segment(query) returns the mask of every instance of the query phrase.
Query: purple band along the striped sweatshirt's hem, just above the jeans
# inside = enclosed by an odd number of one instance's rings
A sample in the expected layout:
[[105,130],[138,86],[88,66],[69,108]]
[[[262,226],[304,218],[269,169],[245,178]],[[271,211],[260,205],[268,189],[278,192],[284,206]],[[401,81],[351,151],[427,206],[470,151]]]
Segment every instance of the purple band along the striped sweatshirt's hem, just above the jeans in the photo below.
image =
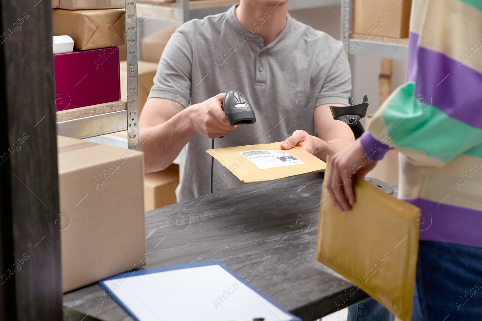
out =
[[419,223],[420,240],[482,247],[482,211],[423,198],[404,201],[421,209],[420,216],[412,219]]

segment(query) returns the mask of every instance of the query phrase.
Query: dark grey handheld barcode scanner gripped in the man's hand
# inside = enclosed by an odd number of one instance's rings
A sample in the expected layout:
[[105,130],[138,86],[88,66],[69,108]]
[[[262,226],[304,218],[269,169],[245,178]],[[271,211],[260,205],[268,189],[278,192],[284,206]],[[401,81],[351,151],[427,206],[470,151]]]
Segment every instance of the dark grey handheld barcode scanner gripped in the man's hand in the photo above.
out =
[[238,90],[229,90],[224,96],[223,109],[229,126],[254,124],[254,109],[246,97]]

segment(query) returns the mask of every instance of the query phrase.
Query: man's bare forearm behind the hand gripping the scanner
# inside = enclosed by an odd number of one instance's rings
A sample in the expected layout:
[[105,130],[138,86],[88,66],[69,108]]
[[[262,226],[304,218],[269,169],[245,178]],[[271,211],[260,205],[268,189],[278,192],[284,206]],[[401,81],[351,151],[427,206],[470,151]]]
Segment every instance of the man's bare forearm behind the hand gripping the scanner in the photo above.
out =
[[159,125],[140,128],[139,150],[144,152],[145,172],[165,169],[196,135],[186,108]]

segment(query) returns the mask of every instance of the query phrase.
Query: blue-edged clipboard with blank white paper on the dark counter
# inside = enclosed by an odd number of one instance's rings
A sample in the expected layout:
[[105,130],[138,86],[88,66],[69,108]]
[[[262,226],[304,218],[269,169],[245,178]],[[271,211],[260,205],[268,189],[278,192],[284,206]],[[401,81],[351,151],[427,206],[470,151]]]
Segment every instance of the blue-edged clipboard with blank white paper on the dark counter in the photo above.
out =
[[[214,284],[217,281],[213,277],[222,280],[222,284]],[[233,283],[224,284],[225,280]],[[113,286],[114,283],[117,286]],[[125,272],[98,284],[136,321],[225,321],[261,317],[266,321],[302,321],[217,261]],[[238,287],[234,289],[233,284]],[[155,293],[151,293],[154,287]],[[189,301],[198,294],[201,296],[197,302]]]

